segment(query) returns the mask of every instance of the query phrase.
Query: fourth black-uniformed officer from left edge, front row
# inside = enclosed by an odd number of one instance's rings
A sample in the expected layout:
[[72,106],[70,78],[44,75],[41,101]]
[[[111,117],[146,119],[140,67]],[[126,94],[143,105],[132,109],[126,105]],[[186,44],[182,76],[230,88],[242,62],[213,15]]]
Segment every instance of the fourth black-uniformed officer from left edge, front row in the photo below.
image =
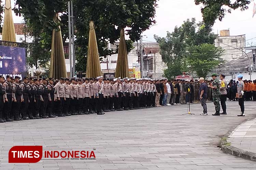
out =
[[31,92],[31,89],[30,89],[30,86],[28,85],[27,77],[23,78],[23,82],[20,84],[20,86],[22,86],[23,99],[24,99],[24,101],[21,104],[20,114],[22,115],[23,120],[28,120],[29,118],[27,117],[27,110],[29,105],[29,94]]

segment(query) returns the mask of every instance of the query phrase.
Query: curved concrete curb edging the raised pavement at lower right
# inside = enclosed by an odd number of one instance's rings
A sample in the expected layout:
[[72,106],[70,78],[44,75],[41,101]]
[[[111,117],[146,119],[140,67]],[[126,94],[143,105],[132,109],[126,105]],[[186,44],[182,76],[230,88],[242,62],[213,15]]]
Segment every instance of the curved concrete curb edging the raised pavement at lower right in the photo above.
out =
[[228,138],[228,136],[224,136],[221,139],[221,149],[223,152],[225,152],[227,154],[234,155],[234,156],[242,157],[244,159],[256,161],[256,153],[247,152],[242,149],[232,147],[231,143],[227,142],[227,138]]

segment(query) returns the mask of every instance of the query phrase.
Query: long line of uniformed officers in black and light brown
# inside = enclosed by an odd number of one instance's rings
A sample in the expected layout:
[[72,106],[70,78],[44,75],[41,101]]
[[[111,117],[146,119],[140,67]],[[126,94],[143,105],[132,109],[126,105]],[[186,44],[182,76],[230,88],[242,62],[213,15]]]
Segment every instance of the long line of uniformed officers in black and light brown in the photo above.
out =
[[155,106],[156,81],[0,76],[0,123]]

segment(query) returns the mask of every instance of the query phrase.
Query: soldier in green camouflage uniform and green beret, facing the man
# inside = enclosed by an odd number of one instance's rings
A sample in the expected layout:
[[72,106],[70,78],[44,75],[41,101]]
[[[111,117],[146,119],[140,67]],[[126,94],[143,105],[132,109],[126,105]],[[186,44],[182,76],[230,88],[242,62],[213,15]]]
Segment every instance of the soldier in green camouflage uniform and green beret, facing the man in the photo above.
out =
[[221,105],[219,104],[219,98],[221,97],[221,91],[220,91],[220,83],[217,79],[217,74],[212,74],[213,82],[210,85],[212,88],[212,97],[213,97],[213,103],[215,106],[215,114],[212,114],[213,116],[219,116],[219,111],[221,110]]

